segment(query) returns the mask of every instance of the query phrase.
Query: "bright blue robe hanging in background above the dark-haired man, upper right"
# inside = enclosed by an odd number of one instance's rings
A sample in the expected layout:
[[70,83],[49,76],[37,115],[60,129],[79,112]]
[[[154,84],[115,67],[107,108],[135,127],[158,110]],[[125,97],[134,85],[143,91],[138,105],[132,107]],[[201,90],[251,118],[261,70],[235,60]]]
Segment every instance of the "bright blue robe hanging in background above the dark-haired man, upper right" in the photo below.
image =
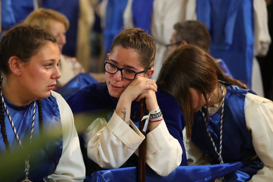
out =
[[251,88],[253,0],[197,0],[197,20],[211,35],[210,53],[225,61],[235,79]]

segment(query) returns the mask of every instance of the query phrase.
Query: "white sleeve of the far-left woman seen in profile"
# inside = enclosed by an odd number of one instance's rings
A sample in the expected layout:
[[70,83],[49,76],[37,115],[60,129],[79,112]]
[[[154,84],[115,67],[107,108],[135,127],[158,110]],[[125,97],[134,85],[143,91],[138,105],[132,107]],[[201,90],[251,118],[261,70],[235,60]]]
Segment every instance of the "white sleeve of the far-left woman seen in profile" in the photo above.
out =
[[59,93],[51,91],[57,100],[62,123],[62,155],[53,174],[45,177],[45,181],[83,181],[85,165],[80,149],[79,137],[74,125],[73,114]]

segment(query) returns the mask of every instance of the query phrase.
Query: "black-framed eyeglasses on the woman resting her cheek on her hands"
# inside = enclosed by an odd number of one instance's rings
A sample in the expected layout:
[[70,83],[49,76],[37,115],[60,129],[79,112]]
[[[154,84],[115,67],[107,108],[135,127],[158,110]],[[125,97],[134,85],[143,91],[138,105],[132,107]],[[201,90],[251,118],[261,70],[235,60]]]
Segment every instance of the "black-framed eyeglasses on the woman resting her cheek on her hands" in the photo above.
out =
[[106,72],[108,72],[110,74],[115,74],[116,72],[120,71],[123,78],[129,79],[129,80],[133,80],[133,79],[136,78],[137,74],[144,73],[144,72],[147,72],[149,70],[149,69],[145,69],[143,71],[136,72],[136,71],[133,71],[131,69],[120,68],[120,67],[116,66],[113,63],[107,62],[107,60],[108,60],[108,58],[104,61],[104,68],[105,68]]

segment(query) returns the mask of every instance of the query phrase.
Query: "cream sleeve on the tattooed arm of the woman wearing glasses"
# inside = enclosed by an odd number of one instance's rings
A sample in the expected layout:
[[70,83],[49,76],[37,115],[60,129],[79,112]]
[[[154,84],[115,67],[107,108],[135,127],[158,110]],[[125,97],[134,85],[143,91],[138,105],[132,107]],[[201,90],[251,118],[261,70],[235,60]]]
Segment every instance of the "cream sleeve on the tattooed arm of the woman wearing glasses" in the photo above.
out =
[[123,165],[145,138],[131,120],[130,126],[116,112],[108,123],[94,120],[83,134],[87,156],[106,169]]

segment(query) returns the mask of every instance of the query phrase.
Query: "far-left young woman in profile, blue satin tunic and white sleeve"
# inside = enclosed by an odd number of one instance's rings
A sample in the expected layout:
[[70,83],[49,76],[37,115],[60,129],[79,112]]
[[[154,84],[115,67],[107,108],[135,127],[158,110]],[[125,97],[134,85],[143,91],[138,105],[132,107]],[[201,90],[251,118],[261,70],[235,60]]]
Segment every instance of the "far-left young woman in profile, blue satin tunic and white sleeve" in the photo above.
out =
[[18,163],[19,171],[9,180],[85,179],[72,112],[64,99],[51,91],[61,76],[59,60],[56,38],[37,27],[17,25],[1,39],[1,153],[24,147],[42,133],[62,131],[40,150],[29,153],[26,165]]

